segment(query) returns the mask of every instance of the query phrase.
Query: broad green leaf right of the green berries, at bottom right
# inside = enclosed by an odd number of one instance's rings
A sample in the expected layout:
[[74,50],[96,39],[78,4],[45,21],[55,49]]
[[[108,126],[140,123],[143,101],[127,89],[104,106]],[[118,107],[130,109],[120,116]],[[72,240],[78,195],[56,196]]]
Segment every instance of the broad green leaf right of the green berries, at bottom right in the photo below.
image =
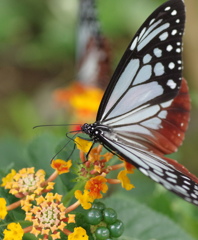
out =
[[193,240],[169,218],[132,198],[116,195],[105,199],[105,203],[114,208],[124,222],[125,231],[120,240]]

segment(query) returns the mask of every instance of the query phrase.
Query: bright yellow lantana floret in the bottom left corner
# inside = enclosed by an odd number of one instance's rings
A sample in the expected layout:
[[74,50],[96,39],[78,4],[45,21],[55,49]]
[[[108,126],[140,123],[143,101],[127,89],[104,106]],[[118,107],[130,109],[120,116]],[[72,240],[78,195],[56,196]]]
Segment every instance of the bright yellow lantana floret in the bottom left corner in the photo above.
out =
[[23,229],[19,223],[8,224],[7,229],[5,229],[3,233],[3,240],[22,240],[24,234]]

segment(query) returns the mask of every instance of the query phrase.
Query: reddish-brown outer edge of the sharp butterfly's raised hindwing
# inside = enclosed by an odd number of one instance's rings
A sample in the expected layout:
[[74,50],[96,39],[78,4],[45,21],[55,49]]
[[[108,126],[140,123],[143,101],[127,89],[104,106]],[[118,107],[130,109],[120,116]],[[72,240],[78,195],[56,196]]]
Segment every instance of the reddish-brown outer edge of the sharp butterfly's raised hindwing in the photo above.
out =
[[161,128],[152,131],[155,136],[150,139],[153,143],[151,151],[158,155],[170,154],[177,151],[182,144],[185,132],[188,128],[190,120],[190,96],[188,93],[188,85],[183,78],[178,95],[174,98],[172,104],[164,108],[167,116],[162,119]]

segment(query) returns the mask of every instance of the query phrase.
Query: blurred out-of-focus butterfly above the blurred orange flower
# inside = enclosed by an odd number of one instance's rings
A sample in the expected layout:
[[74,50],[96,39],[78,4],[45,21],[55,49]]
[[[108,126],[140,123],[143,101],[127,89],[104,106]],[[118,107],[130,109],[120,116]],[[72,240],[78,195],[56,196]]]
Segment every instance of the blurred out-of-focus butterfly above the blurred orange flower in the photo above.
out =
[[80,0],[76,45],[78,81],[105,89],[111,69],[110,47],[101,31],[95,0]]

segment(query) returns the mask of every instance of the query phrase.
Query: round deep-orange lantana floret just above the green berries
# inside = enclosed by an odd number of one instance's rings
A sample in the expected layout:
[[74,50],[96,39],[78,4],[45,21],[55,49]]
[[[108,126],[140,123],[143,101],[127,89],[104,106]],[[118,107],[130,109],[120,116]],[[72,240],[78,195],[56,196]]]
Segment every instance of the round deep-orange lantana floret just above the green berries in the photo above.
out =
[[103,197],[100,192],[106,193],[108,190],[106,182],[107,179],[103,176],[96,176],[87,181],[85,189],[90,191],[90,196],[93,199],[99,199]]

